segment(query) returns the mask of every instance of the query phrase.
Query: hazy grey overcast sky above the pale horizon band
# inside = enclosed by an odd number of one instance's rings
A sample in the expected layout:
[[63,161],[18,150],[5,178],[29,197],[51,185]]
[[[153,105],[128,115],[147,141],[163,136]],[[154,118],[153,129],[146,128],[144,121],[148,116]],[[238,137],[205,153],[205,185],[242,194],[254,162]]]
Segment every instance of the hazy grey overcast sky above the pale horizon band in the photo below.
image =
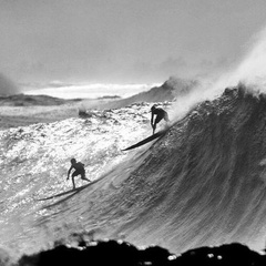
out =
[[265,0],[0,0],[0,73],[16,82],[153,83],[237,63]]

